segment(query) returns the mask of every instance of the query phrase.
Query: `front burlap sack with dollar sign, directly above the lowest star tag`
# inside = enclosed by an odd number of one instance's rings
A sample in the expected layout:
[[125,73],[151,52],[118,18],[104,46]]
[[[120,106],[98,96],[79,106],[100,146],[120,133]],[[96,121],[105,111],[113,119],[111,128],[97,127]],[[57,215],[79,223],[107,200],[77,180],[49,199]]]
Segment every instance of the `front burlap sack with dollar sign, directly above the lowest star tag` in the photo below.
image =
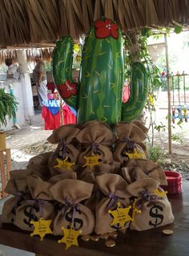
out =
[[90,234],[94,230],[94,214],[82,201],[89,198],[93,185],[78,180],[59,181],[50,188],[54,200],[62,203],[54,218],[53,230],[55,235],[62,235],[62,226],[75,230],[82,230],[83,234]]

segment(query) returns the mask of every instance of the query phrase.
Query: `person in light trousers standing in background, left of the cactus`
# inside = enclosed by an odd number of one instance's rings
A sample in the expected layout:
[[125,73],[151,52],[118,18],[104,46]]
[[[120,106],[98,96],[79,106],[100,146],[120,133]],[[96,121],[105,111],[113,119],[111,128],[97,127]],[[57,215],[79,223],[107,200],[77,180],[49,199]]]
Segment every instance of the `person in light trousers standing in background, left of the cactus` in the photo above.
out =
[[43,106],[42,101],[47,100],[47,87],[46,87],[46,71],[45,71],[45,63],[42,61],[41,55],[36,55],[34,58],[36,65],[33,71],[33,79],[34,83],[36,83],[37,91],[38,91],[38,101],[40,107]]

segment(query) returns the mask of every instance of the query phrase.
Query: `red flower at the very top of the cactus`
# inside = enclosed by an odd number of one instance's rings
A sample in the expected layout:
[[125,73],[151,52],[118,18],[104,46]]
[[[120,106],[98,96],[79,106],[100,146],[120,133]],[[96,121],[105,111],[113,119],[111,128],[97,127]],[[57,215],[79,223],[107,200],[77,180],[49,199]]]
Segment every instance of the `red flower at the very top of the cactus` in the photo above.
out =
[[118,39],[118,29],[117,26],[110,18],[105,19],[105,21],[98,20],[94,22],[95,36],[97,39],[106,39],[110,35],[114,39]]

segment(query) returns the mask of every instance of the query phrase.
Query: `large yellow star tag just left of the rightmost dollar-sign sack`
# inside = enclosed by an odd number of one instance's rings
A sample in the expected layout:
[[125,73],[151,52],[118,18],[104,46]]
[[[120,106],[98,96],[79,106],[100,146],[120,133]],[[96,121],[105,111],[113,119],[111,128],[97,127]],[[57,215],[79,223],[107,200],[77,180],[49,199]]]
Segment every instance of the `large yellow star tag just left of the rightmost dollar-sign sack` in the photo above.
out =
[[132,218],[129,215],[129,211],[131,209],[131,205],[127,208],[122,208],[122,204],[118,202],[118,208],[115,210],[109,209],[108,213],[110,213],[114,219],[111,222],[111,226],[115,226],[119,224],[120,227],[124,227],[127,221],[132,221]]

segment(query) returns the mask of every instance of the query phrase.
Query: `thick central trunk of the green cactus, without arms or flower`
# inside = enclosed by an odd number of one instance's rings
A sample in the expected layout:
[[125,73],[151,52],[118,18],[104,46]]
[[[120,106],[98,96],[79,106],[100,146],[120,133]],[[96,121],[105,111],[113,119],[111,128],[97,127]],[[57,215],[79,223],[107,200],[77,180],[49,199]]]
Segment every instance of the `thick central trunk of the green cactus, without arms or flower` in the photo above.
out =
[[123,39],[95,37],[94,26],[82,52],[78,101],[78,123],[103,120],[115,124],[121,120],[123,90]]

